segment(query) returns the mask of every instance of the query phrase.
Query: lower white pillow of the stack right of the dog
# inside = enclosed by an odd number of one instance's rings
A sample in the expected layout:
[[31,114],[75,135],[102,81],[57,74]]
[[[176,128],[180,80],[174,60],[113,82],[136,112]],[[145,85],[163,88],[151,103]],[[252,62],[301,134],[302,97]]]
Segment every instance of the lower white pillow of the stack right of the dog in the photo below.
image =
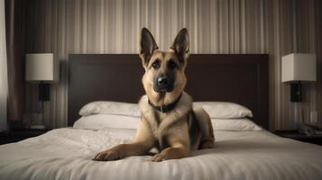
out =
[[211,119],[214,130],[262,130],[249,119]]

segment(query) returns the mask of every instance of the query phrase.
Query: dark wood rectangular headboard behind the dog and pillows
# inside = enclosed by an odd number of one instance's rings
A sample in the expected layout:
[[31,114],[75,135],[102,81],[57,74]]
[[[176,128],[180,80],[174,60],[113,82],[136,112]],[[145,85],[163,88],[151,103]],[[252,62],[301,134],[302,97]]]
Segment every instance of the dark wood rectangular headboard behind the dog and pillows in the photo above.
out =
[[[144,94],[143,70],[137,54],[69,55],[69,126],[86,103],[137,103]],[[193,54],[186,75],[186,92],[194,101],[243,104],[268,129],[267,54]]]

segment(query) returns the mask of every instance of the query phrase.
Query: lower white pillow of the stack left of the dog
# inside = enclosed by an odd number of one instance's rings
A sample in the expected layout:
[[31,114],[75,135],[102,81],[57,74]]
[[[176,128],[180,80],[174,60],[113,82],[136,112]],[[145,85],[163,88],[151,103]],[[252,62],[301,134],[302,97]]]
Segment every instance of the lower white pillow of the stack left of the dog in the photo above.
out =
[[126,115],[93,114],[74,122],[73,128],[86,130],[131,129],[136,130],[140,118]]

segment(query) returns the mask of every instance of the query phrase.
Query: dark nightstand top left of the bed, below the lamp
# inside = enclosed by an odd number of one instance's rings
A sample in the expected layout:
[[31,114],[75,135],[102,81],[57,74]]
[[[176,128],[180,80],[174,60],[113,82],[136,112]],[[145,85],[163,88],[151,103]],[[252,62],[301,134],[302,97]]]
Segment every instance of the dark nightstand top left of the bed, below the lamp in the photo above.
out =
[[0,132],[0,145],[39,136],[49,130],[9,130]]

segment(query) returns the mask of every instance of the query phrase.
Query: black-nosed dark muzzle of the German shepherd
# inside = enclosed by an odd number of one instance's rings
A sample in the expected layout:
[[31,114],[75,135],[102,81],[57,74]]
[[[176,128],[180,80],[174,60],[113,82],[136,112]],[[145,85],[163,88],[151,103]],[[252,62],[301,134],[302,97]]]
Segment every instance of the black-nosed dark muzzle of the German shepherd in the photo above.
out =
[[173,79],[161,74],[154,79],[153,89],[157,93],[167,92],[170,93],[173,91]]

